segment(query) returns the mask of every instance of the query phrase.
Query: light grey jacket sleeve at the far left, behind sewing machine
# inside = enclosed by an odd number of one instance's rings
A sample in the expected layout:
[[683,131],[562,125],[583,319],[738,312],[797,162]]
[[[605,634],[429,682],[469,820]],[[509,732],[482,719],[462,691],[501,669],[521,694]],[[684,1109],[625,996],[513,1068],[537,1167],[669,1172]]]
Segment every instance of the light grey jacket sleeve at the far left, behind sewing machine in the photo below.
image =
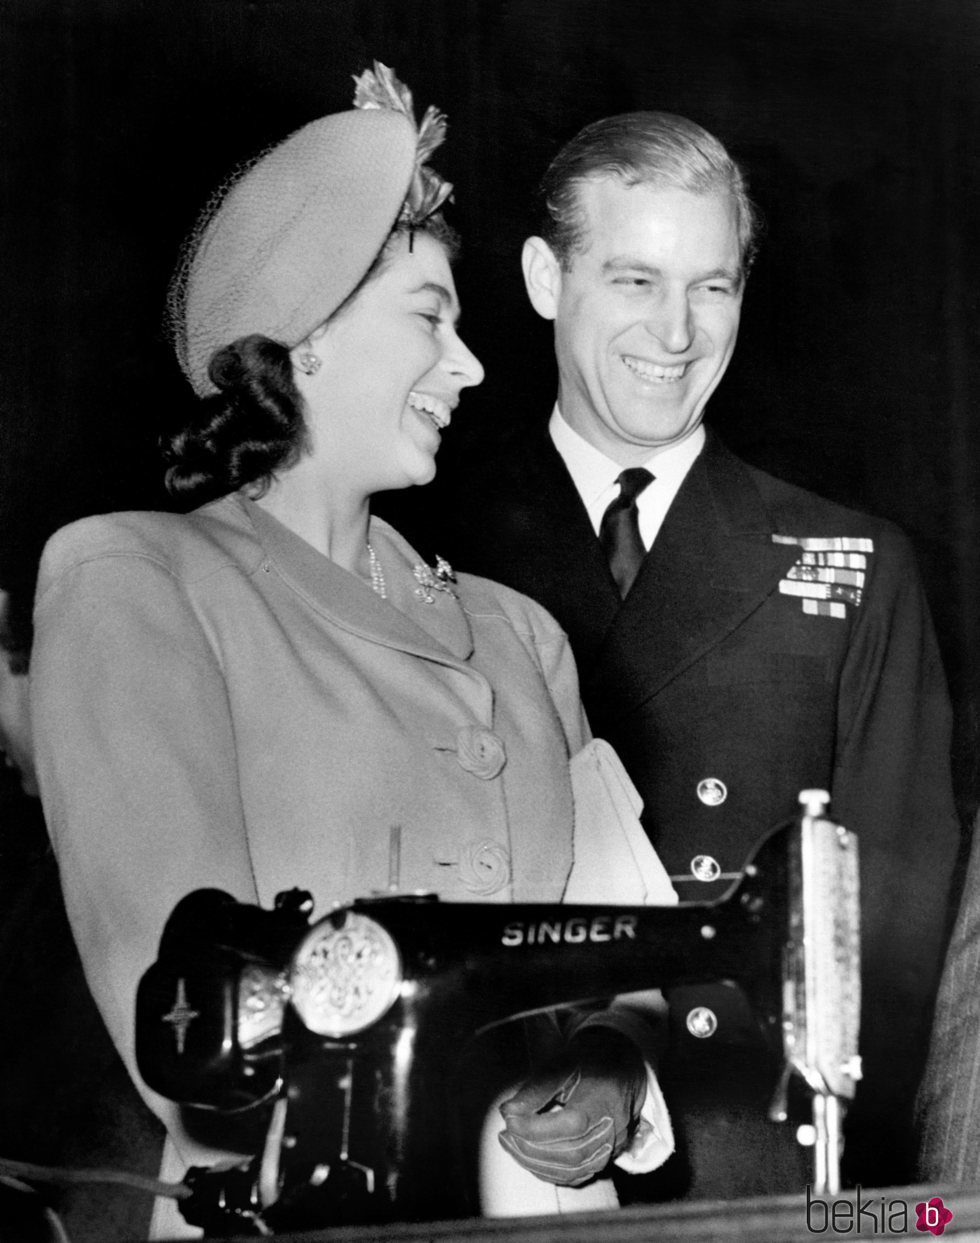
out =
[[90,988],[139,1086],[136,989],[172,909],[201,886],[257,896],[221,670],[158,562],[103,556],[57,572],[42,566],[31,701],[68,917]]

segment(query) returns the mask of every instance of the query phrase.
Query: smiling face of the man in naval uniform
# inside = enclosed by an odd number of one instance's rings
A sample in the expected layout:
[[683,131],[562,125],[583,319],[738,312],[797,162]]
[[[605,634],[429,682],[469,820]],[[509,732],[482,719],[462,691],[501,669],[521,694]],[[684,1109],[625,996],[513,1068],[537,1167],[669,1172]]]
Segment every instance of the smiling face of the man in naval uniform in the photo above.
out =
[[[608,457],[636,465],[694,431],[729,364],[742,295],[735,216],[724,194],[612,178],[580,194],[586,249],[563,271],[531,239],[529,292],[555,319],[562,415]],[[540,281],[531,288],[535,245],[546,293]]]

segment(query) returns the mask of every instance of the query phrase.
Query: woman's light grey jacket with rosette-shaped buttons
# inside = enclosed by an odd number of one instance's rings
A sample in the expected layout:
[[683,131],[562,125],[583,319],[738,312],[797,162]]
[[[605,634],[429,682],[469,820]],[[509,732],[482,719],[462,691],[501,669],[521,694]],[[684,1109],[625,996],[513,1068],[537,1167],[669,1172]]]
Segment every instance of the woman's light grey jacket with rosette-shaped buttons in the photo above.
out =
[[[194,889],[267,907],[300,886],[316,915],[389,884],[448,901],[565,894],[570,758],[594,758],[566,636],[506,587],[437,578],[387,523],[371,539],[387,600],[239,497],[88,518],[45,552],[31,670],[45,814],[137,1084],[137,983]],[[594,792],[581,764],[578,781]],[[144,1094],[184,1156],[208,1161]]]

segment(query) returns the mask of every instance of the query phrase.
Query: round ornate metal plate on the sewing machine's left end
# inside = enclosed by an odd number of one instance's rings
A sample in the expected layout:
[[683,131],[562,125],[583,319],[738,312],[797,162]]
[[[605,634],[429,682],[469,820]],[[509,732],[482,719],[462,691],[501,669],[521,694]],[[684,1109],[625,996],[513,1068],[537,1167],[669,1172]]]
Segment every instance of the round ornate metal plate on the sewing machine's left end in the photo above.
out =
[[363,1032],[387,1013],[402,984],[402,960],[386,929],[342,911],[315,925],[290,968],[292,1004],[317,1035]]

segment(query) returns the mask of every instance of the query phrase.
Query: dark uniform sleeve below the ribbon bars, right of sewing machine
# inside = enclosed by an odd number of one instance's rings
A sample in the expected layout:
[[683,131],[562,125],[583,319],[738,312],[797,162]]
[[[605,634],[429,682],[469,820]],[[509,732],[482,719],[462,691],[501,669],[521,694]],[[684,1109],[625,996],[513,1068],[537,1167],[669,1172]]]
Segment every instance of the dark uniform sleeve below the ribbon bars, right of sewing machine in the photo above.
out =
[[856,1119],[907,1111],[939,978],[959,825],[951,712],[919,576],[885,532],[838,692],[834,819],[858,834],[862,1053]]

